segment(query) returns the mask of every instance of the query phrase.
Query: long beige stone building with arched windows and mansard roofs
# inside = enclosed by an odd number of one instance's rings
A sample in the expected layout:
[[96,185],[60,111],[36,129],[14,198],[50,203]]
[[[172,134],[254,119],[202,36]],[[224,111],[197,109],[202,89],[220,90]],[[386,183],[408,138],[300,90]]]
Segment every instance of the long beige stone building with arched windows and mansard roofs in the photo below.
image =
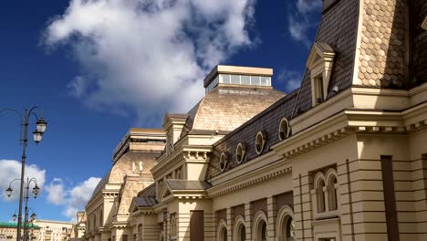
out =
[[166,114],[151,182],[101,183],[85,239],[427,240],[427,2],[323,5],[300,88],[214,68],[203,100]]

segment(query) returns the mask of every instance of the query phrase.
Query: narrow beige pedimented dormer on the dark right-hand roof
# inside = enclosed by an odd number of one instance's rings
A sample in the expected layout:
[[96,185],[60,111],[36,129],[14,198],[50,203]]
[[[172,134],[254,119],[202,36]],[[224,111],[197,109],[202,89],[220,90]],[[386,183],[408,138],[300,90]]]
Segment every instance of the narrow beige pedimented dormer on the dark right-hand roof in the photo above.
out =
[[310,70],[313,106],[326,100],[330,73],[334,64],[335,51],[325,43],[315,43],[307,59]]

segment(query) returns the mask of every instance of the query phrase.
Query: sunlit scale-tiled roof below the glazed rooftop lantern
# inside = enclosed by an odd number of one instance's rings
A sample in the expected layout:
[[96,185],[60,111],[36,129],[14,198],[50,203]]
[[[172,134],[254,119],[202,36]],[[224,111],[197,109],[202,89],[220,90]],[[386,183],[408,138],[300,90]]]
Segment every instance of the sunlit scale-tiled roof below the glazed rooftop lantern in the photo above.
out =
[[269,88],[217,87],[188,112],[181,136],[192,130],[233,131],[284,95]]

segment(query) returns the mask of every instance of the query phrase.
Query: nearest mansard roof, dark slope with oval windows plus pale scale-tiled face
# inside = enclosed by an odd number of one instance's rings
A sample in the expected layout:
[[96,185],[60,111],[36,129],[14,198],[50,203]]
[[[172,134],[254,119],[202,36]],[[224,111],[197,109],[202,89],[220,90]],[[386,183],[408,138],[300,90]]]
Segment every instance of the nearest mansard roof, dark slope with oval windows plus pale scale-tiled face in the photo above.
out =
[[[359,9],[360,1],[364,1],[363,9]],[[427,1],[414,0],[409,5],[396,0],[326,2],[328,9],[324,11],[315,39],[315,46],[336,54],[326,100],[350,87],[408,89],[427,81],[427,31],[421,27],[423,17],[427,15]],[[413,30],[409,40],[411,43],[405,38],[407,13],[410,13]],[[412,47],[410,76],[405,74],[408,71],[405,55],[410,51],[405,48],[405,41]],[[296,118],[313,108],[312,104],[311,73],[306,69],[299,89],[213,145],[206,178],[221,173],[219,160],[222,152],[230,153],[225,172],[237,165],[234,155],[240,141],[248,147],[243,162],[254,159],[257,156],[254,148],[257,131],[266,132],[263,153],[268,152],[272,145],[280,141],[277,128],[282,118]]]

